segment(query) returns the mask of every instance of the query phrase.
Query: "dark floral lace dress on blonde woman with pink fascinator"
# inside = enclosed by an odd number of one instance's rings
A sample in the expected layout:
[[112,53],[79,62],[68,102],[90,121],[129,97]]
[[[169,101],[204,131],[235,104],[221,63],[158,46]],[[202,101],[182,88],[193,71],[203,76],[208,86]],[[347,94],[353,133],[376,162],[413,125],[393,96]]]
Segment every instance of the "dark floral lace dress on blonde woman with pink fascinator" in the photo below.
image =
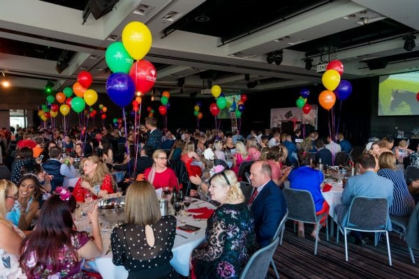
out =
[[196,278],[240,278],[258,249],[247,204],[223,204],[207,221],[205,246],[193,250]]

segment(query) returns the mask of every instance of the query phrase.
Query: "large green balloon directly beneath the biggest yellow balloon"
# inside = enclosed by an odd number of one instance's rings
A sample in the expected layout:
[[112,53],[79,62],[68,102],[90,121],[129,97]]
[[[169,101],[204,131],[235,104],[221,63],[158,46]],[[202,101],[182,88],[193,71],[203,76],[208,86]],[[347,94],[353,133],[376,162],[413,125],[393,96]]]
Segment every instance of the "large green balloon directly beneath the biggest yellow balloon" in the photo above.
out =
[[122,42],[111,43],[105,52],[105,60],[113,73],[128,73],[134,63]]

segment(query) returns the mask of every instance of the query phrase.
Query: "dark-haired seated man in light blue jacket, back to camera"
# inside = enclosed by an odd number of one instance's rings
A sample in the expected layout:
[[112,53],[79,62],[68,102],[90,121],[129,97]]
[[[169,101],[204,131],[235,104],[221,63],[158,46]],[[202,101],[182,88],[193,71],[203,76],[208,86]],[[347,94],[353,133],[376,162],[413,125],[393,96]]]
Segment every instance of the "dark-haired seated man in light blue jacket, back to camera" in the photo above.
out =
[[[349,177],[346,181],[344,192],[341,196],[341,204],[335,206],[335,215],[341,225],[348,220],[348,210],[354,197],[385,197],[388,199],[388,207],[392,205],[393,183],[390,179],[378,176],[374,171],[376,161],[371,154],[362,154],[358,158],[360,175]],[[390,217],[387,219],[387,227],[391,230]],[[361,243],[360,234],[355,234],[355,242]]]

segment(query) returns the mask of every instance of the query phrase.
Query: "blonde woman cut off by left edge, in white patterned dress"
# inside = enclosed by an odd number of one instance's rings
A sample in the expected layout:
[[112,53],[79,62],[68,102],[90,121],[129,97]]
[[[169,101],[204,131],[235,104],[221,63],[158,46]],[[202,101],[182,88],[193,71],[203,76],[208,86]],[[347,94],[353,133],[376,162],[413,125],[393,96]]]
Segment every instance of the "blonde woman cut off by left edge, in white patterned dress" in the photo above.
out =
[[17,187],[11,181],[0,180],[0,278],[26,278],[20,269],[19,246],[23,232],[6,220],[6,213],[17,199]]

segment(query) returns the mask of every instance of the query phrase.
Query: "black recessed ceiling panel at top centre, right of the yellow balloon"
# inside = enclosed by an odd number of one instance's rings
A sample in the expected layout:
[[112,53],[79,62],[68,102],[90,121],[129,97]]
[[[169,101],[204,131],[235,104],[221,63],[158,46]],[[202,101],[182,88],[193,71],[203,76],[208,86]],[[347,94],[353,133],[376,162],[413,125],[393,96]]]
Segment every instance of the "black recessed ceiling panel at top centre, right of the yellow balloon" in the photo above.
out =
[[260,29],[267,24],[280,22],[303,10],[330,1],[253,1],[253,0],[207,0],[180,20],[166,28],[189,31],[221,38],[226,42],[242,34]]

